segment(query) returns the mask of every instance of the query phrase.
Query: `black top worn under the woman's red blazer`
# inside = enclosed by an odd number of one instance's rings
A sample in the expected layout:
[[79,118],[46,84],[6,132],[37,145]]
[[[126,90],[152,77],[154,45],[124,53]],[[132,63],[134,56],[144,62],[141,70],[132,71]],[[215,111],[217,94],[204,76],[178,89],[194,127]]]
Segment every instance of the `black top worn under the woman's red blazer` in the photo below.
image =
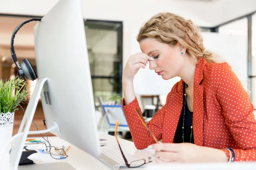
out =
[[[183,88],[183,94],[185,93],[185,86]],[[185,96],[183,95],[183,106],[182,106],[182,110],[180,113],[180,119],[177,125],[177,129],[175,132],[175,136],[174,136],[174,141],[175,143],[183,143],[183,139],[182,139],[182,126],[183,126],[183,115],[184,115],[184,100],[185,100]],[[185,107],[185,119],[184,119],[184,142],[188,142],[190,143],[190,134],[191,134],[191,125],[192,125],[192,119],[193,118],[193,112],[189,111],[188,105],[186,104]],[[192,132],[192,139],[191,139],[191,143],[194,143],[194,135]]]

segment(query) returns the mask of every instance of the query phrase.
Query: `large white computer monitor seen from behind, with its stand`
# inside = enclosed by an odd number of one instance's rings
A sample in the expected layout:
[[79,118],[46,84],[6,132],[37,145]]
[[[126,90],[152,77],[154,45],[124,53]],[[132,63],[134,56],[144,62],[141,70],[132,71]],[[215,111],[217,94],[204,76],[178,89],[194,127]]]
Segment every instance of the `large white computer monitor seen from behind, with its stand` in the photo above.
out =
[[10,153],[17,169],[23,145],[41,94],[51,133],[94,157],[100,155],[93,89],[81,0],[60,0],[35,26],[38,73],[32,97]]

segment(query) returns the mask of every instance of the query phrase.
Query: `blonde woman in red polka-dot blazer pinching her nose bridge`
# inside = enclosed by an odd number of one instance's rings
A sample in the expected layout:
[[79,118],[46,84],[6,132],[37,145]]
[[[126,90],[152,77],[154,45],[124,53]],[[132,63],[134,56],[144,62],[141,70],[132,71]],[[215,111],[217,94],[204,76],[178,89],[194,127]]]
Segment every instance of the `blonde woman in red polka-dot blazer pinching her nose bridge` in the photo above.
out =
[[[256,161],[253,104],[227,62],[205,50],[192,21],[157,14],[140,29],[137,41],[142,53],[129,57],[122,77],[122,105],[137,149],[160,150],[157,162]],[[181,77],[147,123],[162,144],[154,144],[134,111],[140,106],[133,79],[148,62],[163,79]]]

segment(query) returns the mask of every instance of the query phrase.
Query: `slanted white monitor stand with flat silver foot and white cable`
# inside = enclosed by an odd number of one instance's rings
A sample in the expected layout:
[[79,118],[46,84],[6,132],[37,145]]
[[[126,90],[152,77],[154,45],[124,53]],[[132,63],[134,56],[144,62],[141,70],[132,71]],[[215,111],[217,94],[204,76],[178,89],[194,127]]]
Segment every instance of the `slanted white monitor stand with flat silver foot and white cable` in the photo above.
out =
[[[35,109],[38,105],[38,100],[40,98],[40,94],[44,87],[44,83],[46,83],[47,80],[48,80],[48,78],[45,77],[45,78],[38,79],[38,82],[36,82],[35,89],[34,89],[33,94],[29,100],[29,104],[26,108],[26,112],[25,112],[22,122],[20,124],[19,131],[16,134],[17,137],[15,139],[15,142],[12,147],[12,151],[10,153],[10,163],[11,163],[11,167],[13,170],[22,170],[22,168],[28,170],[28,167],[33,167],[33,169],[36,169],[36,170],[41,170],[40,168],[42,168],[42,170],[43,170],[43,167],[44,167],[44,170],[45,169],[74,170],[74,168],[70,164],[65,163],[65,162],[58,162],[58,163],[51,163],[51,164],[31,164],[31,165],[18,166],[19,162],[20,162],[20,157],[22,155],[23,147],[24,147],[24,144],[25,144],[28,134],[47,133],[52,130],[60,131],[58,124],[56,122],[54,122],[55,124],[47,130],[29,131],[31,123],[32,123],[32,119],[35,115]],[[55,166],[58,166],[58,167],[53,168]],[[63,168],[60,168],[60,167],[63,167]]]

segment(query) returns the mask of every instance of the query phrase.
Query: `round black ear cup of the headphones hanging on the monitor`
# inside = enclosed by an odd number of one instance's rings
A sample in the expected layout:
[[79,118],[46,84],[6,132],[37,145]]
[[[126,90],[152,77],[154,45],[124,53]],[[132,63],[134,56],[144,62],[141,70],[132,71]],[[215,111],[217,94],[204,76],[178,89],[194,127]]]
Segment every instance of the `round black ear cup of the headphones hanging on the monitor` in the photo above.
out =
[[32,81],[37,79],[37,74],[28,59],[23,59],[20,63],[20,67],[27,79]]

